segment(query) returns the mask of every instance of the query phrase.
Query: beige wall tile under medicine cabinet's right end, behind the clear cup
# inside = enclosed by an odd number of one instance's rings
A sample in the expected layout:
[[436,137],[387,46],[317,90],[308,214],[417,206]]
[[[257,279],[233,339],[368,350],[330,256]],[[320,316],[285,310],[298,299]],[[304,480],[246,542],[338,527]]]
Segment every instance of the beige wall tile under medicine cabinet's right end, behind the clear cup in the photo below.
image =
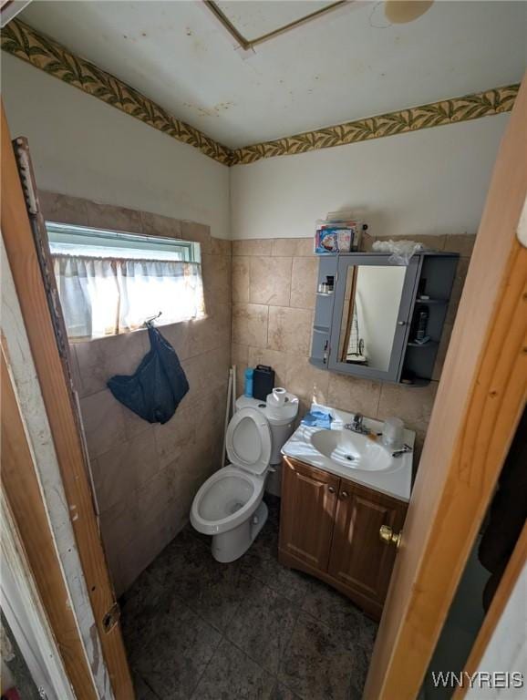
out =
[[430,382],[429,386],[383,384],[377,417],[379,420],[390,416],[402,418],[410,430],[424,432],[429,426],[437,389],[437,382]]

